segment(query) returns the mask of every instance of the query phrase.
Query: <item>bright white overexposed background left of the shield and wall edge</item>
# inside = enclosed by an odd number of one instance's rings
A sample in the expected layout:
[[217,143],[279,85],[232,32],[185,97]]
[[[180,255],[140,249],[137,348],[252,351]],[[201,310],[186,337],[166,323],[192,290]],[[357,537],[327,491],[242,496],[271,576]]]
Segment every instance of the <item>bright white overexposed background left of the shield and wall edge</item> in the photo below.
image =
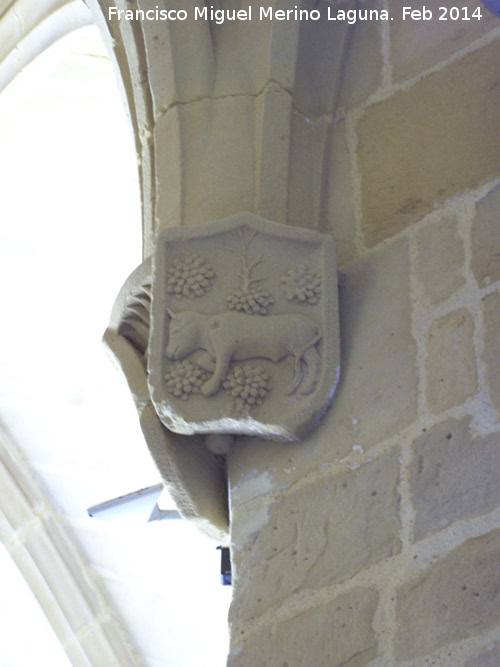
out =
[[[216,545],[183,521],[86,513],[159,481],[100,342],[141,261],[141,214],[131,131],[95,27],[60,40],[0,95],[0,187],[0,421],[145,664],[221,667],[230,589]],[[24,610],[27,596],[12,595]],[[0,643],[0,667],[34,664],[17,658]]]

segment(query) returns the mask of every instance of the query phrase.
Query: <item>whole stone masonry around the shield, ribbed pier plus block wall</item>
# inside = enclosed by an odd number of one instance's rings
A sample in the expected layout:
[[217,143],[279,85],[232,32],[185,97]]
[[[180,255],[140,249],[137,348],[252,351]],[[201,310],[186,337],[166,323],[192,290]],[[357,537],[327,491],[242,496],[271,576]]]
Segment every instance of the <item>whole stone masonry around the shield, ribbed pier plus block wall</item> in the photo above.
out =
[[135,130],[145,258],[162,228],[241,211],[337,247],[331,408],[226,457],[228,664],[499,664],[500,20],[469,0],[454,20],[320,0],[299,3],[317,21],[221,24],[88,4]]

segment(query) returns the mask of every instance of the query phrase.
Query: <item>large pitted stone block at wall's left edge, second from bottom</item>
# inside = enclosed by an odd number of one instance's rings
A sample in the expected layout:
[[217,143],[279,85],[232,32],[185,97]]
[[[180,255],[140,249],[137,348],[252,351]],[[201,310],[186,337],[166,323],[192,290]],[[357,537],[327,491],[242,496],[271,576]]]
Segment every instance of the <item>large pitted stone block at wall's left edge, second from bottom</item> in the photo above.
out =
[[[392,452],[277,501],[254,543],[234,550],[231,617],[258,616],[293,593],[330,586],[397,553],[398,479]],[[236,511],[233,525],[238,521]]]

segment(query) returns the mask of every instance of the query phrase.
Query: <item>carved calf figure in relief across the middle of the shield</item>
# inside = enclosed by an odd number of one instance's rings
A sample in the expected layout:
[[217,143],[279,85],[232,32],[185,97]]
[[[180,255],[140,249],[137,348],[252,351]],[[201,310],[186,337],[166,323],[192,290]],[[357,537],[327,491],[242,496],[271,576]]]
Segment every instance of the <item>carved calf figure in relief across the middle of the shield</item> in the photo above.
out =
[[[215,394],[226,377],[231,361],[265,358],[275,363],[292,356],[295,375],[289,394],[297,391],[307,395],[314,389],[320,373],[320,355],[316,344],[322,334],[319,324],[306,315],[287,313],[256,317],[226,311],[204,315],[194,311],[170,315],[166,356],[184,359],[192,352],[203,350],[199,363],[213,371],[202,385],[205,396]],[[302,364],[305,363],[306,377]]]

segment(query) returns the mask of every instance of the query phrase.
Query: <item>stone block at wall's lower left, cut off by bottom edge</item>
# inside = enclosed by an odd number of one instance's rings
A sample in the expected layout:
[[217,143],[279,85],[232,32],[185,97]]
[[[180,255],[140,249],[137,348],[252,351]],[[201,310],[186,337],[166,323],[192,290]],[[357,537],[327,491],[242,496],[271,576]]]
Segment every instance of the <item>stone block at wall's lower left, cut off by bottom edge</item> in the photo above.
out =
[[237,646],[229,667],[362,667],[376,657],[377,593],[358,588],[264,630]]

